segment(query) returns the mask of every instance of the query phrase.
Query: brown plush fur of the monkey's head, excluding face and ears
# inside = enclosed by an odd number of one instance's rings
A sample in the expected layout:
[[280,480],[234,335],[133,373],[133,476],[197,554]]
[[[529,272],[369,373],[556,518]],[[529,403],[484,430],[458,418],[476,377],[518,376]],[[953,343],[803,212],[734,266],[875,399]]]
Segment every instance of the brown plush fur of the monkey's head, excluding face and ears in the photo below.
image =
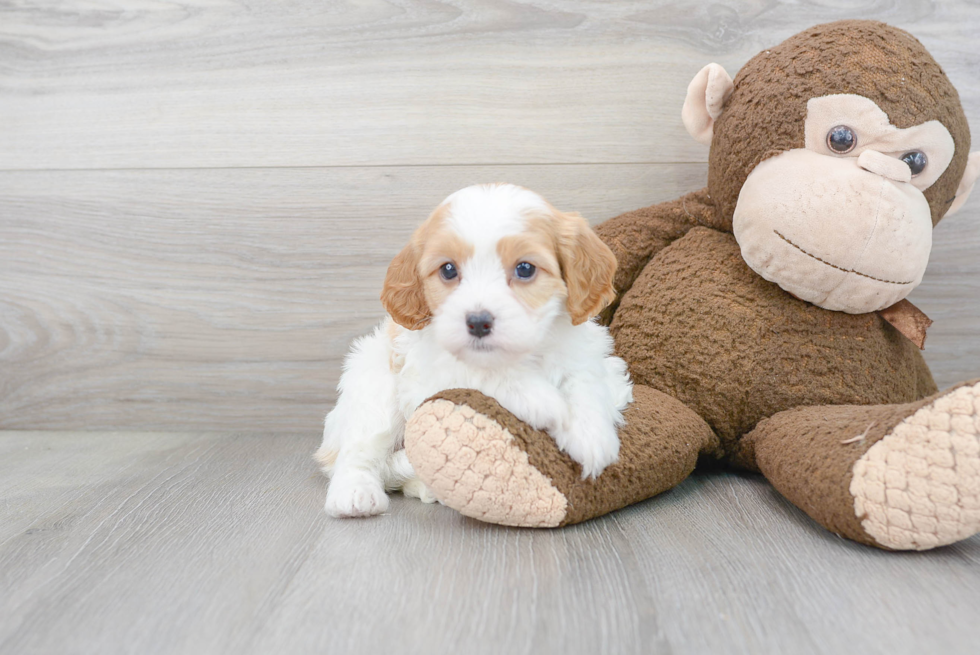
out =
[[908,32],[884,23],[845,20],[804,30],[753,57],[715,123],[708,189],[731,229],[738,194],[764,159],[803,147],[810,98],[853,93],[874,100],[893,125],[938,120],[953,137],[949,168],[925,192],[933,224],[956,195],[970,153],[970,128],[959,95],[929,52]]

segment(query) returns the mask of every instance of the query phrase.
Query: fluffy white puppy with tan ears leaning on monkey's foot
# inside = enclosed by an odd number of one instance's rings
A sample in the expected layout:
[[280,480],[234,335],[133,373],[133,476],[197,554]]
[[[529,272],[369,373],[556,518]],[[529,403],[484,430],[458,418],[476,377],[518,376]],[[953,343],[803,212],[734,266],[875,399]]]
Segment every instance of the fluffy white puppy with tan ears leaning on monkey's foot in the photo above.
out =
[[577,214],[513,185],[446,198],[388,268],[388,317],[356,340],[315,458],[331,516],[388,508],[385,489],[432,502],[402,448],[438,391],[477,389],[598,476],[619,456],[633,399],[626,364],[591,321],[615,296],[616,258]]

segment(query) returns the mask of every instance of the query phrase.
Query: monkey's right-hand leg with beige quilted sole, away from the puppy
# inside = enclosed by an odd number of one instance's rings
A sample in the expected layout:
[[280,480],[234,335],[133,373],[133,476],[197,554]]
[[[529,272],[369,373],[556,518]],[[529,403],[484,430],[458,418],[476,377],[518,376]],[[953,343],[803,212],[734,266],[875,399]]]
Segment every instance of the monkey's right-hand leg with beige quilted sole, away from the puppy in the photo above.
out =
[[824,527],[928,550],[980,532],[980,381],[904,405],[815,406],[746,437],[759,469]]

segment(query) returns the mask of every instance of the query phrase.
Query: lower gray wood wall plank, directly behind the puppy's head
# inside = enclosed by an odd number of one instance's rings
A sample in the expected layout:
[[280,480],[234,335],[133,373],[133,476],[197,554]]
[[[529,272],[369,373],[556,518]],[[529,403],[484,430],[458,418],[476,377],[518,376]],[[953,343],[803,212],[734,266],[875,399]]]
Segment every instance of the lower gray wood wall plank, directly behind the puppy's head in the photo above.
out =
[[[391,257],[448,193],[538,189],[593,220],[700,164],[0,173],[0,428],[316,430]],[[941,385],[980,375],[980,202],[912,300]],[[974,299],[971,302],[970,299]]]

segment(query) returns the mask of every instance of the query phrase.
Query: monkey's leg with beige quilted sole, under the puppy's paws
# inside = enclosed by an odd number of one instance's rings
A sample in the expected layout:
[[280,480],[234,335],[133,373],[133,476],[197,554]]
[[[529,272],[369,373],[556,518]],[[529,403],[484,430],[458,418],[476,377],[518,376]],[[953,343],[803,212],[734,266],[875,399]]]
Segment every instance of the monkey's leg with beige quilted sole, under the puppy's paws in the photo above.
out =
[[455,389],[429,399],[405,429],[416,474],[444,504],[502,525],[578,523],[670,489],[717,439],[694,412],[646,387],[620,429],[620,458],[595,480],[532,429],[477,391]]

